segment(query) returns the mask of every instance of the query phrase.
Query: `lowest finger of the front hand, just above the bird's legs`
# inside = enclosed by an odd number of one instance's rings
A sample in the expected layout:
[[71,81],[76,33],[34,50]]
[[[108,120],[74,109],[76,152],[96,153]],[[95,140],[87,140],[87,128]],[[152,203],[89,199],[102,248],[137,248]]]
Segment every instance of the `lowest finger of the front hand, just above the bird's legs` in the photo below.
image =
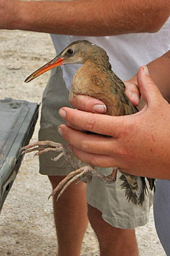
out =
[[81,151],[80,149],[73,147],[72,145],[69,145],[69,149],[71,149],[71,151],[77,158],[79,158],[84,163],[87,163],[88,165],[103,168],[120,165],[120,163],[118,163],[118,161],[114,157],[111,157],[109,155],[100,155],[84,152]]

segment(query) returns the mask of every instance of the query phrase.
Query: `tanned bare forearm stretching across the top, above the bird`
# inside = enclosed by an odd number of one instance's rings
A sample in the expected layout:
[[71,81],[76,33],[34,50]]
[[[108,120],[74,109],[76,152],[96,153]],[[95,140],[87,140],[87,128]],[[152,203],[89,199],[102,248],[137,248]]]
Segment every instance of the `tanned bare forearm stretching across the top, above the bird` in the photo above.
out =
[[0,0],[0,27],[87,36],[156,32],[169,11],[169,0]]

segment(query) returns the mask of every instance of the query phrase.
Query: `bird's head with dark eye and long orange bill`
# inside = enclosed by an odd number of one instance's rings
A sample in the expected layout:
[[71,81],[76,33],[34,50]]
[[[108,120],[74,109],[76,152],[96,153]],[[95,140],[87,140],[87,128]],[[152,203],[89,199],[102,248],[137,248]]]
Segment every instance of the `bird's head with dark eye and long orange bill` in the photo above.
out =
[[73,43],[69,44],[69,46],[67,46],[67,48],[65,48],[59,55],[57,55],[55,59],[51,60],[46,65],[41,66],[41,68],[37,69],[34,73],[27,77],[25,82],[30,82],[56,66],[73,63],[84,64],[86,60],[91,59],[95,61],[98,59],[98,57],[101,57],[101,59],[104,57],[106,60],[109,60],[106,51],[96,44],[92,44],[86,40],[74,41]]

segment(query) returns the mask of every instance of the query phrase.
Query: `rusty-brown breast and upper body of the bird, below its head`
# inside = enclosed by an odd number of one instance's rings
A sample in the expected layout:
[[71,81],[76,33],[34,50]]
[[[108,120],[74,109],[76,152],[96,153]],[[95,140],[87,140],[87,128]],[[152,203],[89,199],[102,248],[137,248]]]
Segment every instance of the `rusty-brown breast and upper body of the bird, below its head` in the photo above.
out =
[[[114,80],[114,73],[105,70],[102,66],[87,61],[73,76],[69,99],[77,94],[88,95],[106,104],[106,115],[120,116],[132,112],[124,93],[124,84]],[[121,81],[121,80],[120,80]],[[132,106],[131,102],[130,105]],[[133,112],[134,113],[134,112]]]

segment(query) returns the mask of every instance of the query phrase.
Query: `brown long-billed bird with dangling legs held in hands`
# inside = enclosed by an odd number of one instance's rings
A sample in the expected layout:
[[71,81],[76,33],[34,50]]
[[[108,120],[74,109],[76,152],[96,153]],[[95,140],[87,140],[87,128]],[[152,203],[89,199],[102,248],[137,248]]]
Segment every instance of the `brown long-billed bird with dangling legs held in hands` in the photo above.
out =
[[[82,65],[73,76],[69,101],[78,94],[84,94],[103,101],[107,107],[105,115],[123,116],[138,112],[138,109],[134,107],[126,96],[123,81],[112,71],[107,52],[97,44],[87,40],[78,40],[70,43],[55,59],[27,77],[25,82],[30,82],[56,66],[73,63]],[[79,168],[67,149],[62,144],[53,141],[36,141],[36,143],[22,148],[23,153],[31,151],[38,151],[36,155],[49,151],[60,152],[53,160],[58,160],[64,156],[72,166],[73,171],[50,194],[50,196],[53,196],[60,191],[58,198],[70,183],[76,179],[91,182],[94,176],[103,180],[103,182],[112,183],[116,180],[117,171],[120,171],[118,167],[115,167],[109,176],[104,176],[99,174],[92,166],[87,165]],[[120,179],[122,180],[121,188],[124,190],[127,201],[131,201],[135,205],[143,205],[144,197],[148,191],[146,180],[148,180],[149,188],[151,190],[154,188],[154,179],[145,179],[145,177],[133,176],[125,172],[121,172]]]

